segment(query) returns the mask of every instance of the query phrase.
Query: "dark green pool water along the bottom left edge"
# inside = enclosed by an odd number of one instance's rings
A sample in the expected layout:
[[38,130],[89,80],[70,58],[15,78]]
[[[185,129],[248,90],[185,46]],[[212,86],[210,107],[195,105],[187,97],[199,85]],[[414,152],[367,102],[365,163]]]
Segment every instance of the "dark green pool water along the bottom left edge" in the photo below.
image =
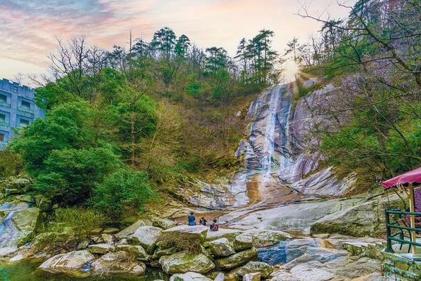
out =
[[0,280],[1,281],[69,281],[69,280],[80,280],[80,281],[94,281],[94,280],[130,280],[130,281],[153,281],[157,279],[169,280],[169,275],[166,275],[158,269],[147,270],[145,275],[138,277],[123,277],[123,276],[108,276],[108,277],[86,277],[76,278],[68,275],[58,275],[46,273],[44,271],[37,270],[40,262],[18,262],[14,264],[6,264],[0,262]]

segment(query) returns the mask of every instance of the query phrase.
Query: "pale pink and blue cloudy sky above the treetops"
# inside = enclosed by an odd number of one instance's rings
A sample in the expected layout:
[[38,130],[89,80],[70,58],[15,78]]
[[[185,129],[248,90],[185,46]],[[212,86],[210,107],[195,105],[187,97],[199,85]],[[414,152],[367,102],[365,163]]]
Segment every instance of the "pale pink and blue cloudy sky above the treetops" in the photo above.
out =
[[[341,0],[352,5],[353,0]],[[320,24],[296,15],[301,6],[313,15],[345,17],[336,0],[0,0],[0,79],[48,71],[47,56],[57,38],[85,35],[103,49],[127,45],[132,37],[151,40],[164,26],[186,34],[201,48],[222,46],[234,55],[241,38],[275,31],[273,47],[284,52],[294,36],[307,42]],[[291,63],[287,76],[294,71]]]

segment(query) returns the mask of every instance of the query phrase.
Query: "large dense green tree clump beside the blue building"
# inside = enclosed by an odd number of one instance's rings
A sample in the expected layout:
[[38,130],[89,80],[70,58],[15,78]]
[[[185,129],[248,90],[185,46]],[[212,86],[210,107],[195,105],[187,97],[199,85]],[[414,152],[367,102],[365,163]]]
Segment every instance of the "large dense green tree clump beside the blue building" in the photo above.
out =
[[36,178],[35,189],[54,202],[83,203],[94,183],[121,165],[107,134],[96,127],[97,114],[83,101],[59,105],[10,145]]

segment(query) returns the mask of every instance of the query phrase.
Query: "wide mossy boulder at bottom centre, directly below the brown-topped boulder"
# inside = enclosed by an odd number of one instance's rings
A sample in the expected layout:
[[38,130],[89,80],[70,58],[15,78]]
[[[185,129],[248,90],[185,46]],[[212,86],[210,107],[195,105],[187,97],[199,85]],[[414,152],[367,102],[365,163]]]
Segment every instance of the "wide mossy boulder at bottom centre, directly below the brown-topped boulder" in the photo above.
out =
[[215,264],[202,253],[182,251],[173,255],[160,257],[162,269],[169,274],[175,273],[207,273],[214,269]]

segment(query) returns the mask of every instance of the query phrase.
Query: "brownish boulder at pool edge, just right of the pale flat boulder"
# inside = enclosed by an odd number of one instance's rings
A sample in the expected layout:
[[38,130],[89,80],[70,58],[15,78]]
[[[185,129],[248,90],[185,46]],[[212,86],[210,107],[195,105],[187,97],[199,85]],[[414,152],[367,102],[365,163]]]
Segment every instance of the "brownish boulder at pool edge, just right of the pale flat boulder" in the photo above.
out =
[[132,274],[139,275],[146,271],[143,262],[137,262],[127,252],[119,251],[108,253],[92,263],[92,273],[94,274]]

